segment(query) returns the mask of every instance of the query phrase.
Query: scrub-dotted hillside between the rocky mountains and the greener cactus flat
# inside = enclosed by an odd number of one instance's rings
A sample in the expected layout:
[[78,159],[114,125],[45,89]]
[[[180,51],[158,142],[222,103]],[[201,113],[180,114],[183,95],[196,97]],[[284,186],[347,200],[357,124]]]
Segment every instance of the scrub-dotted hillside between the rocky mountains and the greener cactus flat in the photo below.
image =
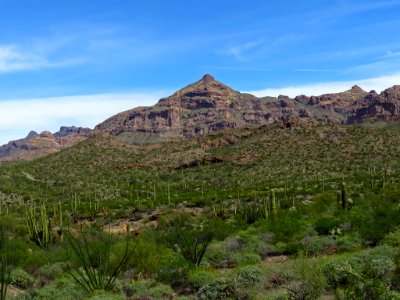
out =
[[[94,135],[52,155],[0,169],[0,191],[64,202],[74,193],[122,202],[136,199],[136,193],[153,199],[154,188],[159,201],[166,201],[168,189],[176,201],[235,197],[237,188],[251,197],[255,188],[281,187],[285,181],[302,185],[304,180],[368,177],[372,169],[391,174],[400,168],[399,148],[395,126],[299,123],[289,129],[274,122],[141,147]],[[8,170],[14,171],[7,175]],[[35,178],[34,190],[24,174]]]

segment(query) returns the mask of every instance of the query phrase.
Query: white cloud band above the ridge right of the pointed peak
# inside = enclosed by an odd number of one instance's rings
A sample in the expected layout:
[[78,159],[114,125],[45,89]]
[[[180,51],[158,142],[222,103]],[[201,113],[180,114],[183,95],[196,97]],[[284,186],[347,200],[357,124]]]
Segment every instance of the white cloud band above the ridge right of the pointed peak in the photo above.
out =
[[298,86],[287,86],[281,88],[267,88],[262,90],[247,91],[246,93],[250,93],[258,97],[277,97],[279,95],[295,97],[303,94],[308,96],[315,96],[327,93],[343,92],[349,90],[353,85],[359,85],[366,91],[376,90],[379,93],[396,84],[400,84],[400,73],[362,80],[322,82]]

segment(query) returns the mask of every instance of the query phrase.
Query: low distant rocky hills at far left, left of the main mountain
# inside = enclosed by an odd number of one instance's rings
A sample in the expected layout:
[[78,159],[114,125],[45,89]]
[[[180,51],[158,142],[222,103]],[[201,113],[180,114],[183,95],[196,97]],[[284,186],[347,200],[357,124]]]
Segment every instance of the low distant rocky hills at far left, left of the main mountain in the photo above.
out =
[[40,134],[31,131],[23,139],[0,146],[0,161],[28,160],[53,153],[86,139],[90,132],[89,128],[74,126],[63,126],[54,134],[49,131]]

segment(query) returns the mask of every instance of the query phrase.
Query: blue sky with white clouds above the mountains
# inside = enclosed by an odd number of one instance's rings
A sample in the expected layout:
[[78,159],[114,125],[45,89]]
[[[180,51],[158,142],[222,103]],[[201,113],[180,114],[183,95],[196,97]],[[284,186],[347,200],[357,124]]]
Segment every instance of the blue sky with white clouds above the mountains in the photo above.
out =
[[0,0],[0,144],[212,74],[258,96],[400,84],[400,0]]

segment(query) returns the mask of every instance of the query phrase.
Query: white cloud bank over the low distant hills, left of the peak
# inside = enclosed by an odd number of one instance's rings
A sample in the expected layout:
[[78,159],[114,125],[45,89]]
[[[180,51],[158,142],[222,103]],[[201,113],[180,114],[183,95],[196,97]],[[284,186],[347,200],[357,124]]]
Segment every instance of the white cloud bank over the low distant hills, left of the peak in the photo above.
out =
[[153,105],[161,95],[165,91],[0,100],[0,145],[31,130],[55,132],[63,125],[93,128],[119,112]]

